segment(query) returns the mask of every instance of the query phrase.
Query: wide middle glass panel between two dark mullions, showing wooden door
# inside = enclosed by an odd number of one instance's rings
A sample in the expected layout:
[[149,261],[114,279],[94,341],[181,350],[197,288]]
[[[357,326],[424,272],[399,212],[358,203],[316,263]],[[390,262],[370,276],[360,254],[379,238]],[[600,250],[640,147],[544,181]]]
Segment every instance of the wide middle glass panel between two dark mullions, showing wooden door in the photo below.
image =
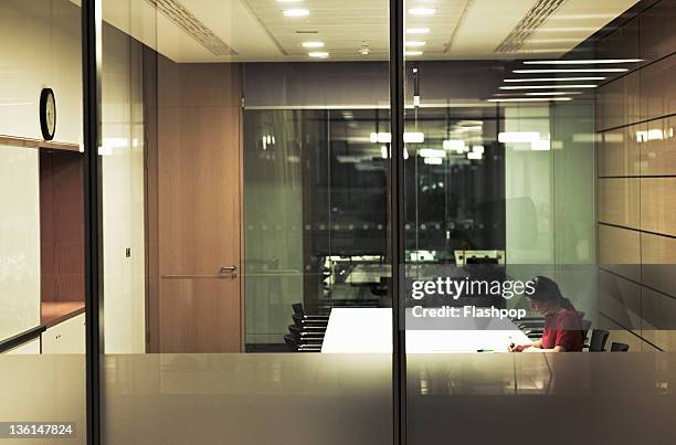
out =
[[391,443],[388,2],[103,28],[105,443]]

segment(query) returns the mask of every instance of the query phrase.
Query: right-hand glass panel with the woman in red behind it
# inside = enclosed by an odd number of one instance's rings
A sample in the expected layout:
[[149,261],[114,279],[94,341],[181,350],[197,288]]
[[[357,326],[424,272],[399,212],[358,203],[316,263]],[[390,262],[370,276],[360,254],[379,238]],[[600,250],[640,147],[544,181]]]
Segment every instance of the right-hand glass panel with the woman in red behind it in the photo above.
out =
[[405,2],[409,443],[676,433],[673,7],[634,3]]

